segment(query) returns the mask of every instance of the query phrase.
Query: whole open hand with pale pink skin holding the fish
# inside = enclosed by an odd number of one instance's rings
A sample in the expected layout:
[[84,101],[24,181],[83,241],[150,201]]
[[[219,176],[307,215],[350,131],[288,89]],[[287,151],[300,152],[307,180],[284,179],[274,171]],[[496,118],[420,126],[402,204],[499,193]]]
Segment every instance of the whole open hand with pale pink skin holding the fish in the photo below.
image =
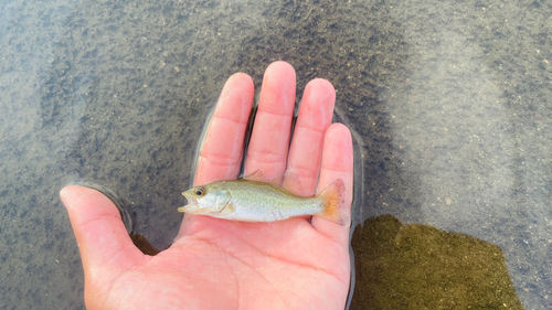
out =
[[[306,86],[289,146],[295,87],[289,64],[268,66],[245,173],[258,170],[267,179],[295,178],[300,190],[287,190],[302,196],[342,179],[350,210],[352,141],[346,126],[331,124],[333,86],[320,78]],[[201,150],[195,184],[237,178],[253,96],[248,75],[237,73],[227,79]],[[132,244],[116,206],[102,193],[72,185],[61,196],[81,250],[88,309],[346,306],[349,225],[318,216],[244,223],[187,214],[174,243],[148,256]]]

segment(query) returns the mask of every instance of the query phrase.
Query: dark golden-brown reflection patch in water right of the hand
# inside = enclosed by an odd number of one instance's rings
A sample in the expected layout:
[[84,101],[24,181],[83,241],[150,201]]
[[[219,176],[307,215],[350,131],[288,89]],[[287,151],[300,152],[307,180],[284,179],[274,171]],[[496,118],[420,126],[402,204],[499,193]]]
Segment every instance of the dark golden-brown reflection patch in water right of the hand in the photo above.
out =
[[391,215],[354,229],[350,309],[523,309],[493,244]]

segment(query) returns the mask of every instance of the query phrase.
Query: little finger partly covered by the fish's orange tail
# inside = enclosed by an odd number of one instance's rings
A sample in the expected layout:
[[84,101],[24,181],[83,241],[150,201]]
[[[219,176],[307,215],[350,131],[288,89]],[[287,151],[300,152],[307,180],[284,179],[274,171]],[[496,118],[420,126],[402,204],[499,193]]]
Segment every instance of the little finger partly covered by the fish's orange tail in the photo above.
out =
[[[343,211],[348,213],[350,218],[353,186],[352,139],[349,128],[342,124],[333,124],[326,131],[317,193],[323,191],[328,184],[337,179],[344,182],[347,210]],[[349,222],[343,226],[315,215],[311,224],[318,232],[347,244]]]

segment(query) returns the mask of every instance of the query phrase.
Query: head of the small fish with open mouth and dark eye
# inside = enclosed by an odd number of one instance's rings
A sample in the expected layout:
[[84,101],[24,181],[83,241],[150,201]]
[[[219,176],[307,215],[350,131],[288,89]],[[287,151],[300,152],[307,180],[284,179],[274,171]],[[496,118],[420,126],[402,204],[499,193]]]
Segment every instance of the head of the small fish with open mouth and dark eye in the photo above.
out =
[[232,202],[232,195],[224,186],[224,182],[194,186],[182,195],[188,200],[188,204],[178,211],[191,214],[219,214]]

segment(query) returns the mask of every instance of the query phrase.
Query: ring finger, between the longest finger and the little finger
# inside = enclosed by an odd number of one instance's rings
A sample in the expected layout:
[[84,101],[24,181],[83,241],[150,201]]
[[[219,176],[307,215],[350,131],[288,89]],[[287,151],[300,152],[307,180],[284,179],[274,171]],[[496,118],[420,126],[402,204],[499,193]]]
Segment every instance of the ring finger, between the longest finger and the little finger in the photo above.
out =
[[335,103],[336,90],[330,82],[317,78],[305,87],[286,169],[289,175],[286,178],[294,178],[300,184],[298,191],[287,189],[295,194],[309,196],[316,191],[323,137],[331,124]]

